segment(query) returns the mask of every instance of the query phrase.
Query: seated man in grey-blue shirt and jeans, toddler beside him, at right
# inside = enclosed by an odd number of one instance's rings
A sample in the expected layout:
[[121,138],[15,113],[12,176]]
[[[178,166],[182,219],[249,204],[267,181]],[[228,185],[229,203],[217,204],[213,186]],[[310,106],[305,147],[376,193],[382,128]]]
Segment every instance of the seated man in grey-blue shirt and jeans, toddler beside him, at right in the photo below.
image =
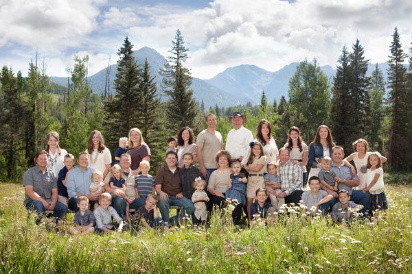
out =
[[[363,206],[362,212],[365,213],[369,204],[369,192],[363,193],[362,190],[352,190],[352,188],[358,186],[359,178],[357,175],[353,175],[352,169],[349,166],[343,164],[344,157],[343,147],[334,146],[332,148],[332,166],[330,170],[336,175],[334,179],[339,183],[339,189],[347,190],[350,195],[350,201],[361,204]],[[334,206],[339,201],[337,193],[329,189],[326,192],[334,197],[330,201],[330,206]]]

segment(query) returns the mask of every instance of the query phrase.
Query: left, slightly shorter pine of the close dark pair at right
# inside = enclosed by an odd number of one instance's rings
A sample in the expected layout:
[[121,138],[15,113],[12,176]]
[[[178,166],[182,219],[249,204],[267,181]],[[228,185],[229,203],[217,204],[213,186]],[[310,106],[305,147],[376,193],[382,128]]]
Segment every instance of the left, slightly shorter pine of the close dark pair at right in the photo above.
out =
[[[334,76],[332,86],[332,108],[331,120],[334,141],[344,147],[345,151],[351,151],[350,147],[353,140],[348,136],[352,128],[352,121],[350,121],[351,108],[349,107],[350,97],[350,81],[351,69],[349,64],[349,53],[345,46],[343,46],[342,54],[338,60],[339,66],[336,68],[336,75]],[[349,149],[349,150],[348,150]]]

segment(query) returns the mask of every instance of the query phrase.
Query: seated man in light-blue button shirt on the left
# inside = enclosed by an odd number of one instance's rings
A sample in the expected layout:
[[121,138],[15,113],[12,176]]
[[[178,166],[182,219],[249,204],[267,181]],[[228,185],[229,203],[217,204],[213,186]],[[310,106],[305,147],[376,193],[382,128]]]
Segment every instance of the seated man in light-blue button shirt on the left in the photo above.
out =
[[[90,193],[91,174],[94,169],[89,167],[89,153],[82,151],[78,156],[78,165],[67,173],[67,193],[69,194],[69,209],[79,210],[77,200],[80,196],[86,196],[89,201],[98,201],[100,193]],[[93,210],[94,203],[91,204]]]

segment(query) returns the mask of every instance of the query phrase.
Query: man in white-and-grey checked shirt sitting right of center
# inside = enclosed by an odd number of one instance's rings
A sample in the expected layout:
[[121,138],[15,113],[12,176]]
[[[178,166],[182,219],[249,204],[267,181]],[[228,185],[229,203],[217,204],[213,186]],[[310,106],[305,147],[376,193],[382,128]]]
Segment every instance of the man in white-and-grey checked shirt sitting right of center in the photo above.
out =
[[301,190],[301,167],[289,160],[289,150],[284,147],[279,149],[279,160],[279,174],[282,184],[277,185],[277,188],[280,188],[282,191],[277,193],[277,197],[284,198],[285,203],[297,204],[301,200],[303,193]]

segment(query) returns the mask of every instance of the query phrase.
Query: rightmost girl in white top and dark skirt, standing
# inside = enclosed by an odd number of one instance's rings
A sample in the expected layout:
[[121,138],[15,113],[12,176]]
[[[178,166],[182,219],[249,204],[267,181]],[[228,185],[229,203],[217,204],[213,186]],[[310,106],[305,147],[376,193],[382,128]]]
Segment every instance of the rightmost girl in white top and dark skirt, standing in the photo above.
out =
[[[378,152],[372,152],[367,158],[366,187],[363,192],[369,191],[369,210],[387,210],[388,203],[385,195],[385,185],[383,184],[383,169]],[[378,208],[379,207],[379,208]]]

